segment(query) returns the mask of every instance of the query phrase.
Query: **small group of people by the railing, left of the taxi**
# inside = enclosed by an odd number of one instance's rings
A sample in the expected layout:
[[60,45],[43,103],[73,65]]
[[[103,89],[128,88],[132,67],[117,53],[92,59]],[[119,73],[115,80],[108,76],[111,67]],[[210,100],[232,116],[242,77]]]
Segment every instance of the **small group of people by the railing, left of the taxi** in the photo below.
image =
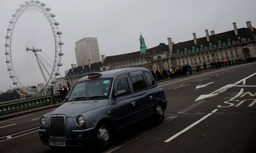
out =
[[[65,101],[65,97],[67,95],[69,95],[71,93],[71,86],[70,84],[67,82],[67,85],[58,85],[58,92],[61,95],[61,102]],[[53,104],[54,101],[56,101],[56,103],[58,103],[58,100],[55,97],[55,89],[53,88],[53,86],[50,86],[50,93],[51,93],[51,104]]]

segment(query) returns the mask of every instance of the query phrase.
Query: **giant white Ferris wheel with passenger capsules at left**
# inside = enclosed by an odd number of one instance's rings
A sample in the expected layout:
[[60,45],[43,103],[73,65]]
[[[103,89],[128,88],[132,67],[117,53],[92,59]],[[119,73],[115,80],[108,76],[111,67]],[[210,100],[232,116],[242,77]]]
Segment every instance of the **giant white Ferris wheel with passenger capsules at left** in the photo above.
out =
[[50,11],[40,1],[25,2],[16,9],[7,28],[7,70],[13,84],[23,93],[39,93],[56,84],[60,75],[62,32]]

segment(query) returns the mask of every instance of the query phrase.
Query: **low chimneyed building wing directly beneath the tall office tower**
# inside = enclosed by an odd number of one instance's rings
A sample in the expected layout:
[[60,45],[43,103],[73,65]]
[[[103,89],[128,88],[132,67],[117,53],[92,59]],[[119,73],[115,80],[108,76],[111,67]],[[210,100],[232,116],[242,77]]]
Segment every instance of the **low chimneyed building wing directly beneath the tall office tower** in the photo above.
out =
[[71,69],[68,71],[66,75],[66,81],[68,81],[73,88],[77,81],[85,77],[88,74],[100,72],[101,62],[88,64],[88,65],[82,65],[79,67],[76,67],[76,64],[71,64]]

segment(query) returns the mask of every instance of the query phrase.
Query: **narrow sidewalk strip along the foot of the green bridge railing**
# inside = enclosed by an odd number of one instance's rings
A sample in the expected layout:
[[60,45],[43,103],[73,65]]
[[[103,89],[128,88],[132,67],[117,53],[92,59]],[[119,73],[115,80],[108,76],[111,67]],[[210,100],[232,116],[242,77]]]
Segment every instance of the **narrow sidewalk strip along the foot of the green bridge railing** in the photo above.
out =
[[1,115],[0,116],[0,121],[1,120],[6,120],[6,119],[10,119],[10,118],[14,118],[14,117],[21,116],[21,115],[25,115],[25,114],[29,114],[29,113],[33,113],[33,112],[37,112],[37,111],[41,111],[41,110],[57,108],[58,106],[60,106],[62,104],[64,104],[64,103],[46,105],[46,106],[42,106],[42,107],[39,107],[39,108],[33,108],[33,109],[18,111],[18,112],[6,114],[6,115]]

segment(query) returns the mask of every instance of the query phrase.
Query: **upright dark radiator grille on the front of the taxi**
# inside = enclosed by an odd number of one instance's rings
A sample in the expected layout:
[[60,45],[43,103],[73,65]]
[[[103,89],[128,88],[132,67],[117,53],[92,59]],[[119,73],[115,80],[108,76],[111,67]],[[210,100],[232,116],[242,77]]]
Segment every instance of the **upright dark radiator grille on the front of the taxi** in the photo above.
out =
[[53,115],[50,119],[49,131],[51,137],[66,137],[65,116]]

